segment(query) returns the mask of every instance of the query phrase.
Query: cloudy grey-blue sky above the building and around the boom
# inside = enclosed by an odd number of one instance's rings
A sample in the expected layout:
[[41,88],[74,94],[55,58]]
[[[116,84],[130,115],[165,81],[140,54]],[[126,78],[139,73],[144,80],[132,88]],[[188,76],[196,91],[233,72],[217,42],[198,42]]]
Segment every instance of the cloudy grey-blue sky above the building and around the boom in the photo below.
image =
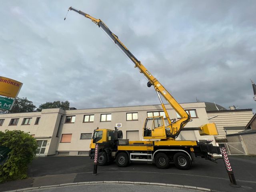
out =
[[252,108],[253,0],[1,0],[0,76],[37,107],[159,104],[154,88],[91,20],[101,19],[180,103]]

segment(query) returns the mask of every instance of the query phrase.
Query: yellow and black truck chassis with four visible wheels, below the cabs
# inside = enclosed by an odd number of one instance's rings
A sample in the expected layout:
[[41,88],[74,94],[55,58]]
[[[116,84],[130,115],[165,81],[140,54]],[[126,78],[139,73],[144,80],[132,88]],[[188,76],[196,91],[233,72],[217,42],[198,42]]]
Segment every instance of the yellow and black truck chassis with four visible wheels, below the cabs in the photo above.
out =
[[[120,141],[98,143],[98,165],[115,161],[118,166],[126,167],[130,162],[143,161],[166,169],[170,162],[174,162],[178,169],[188,170],[196,157],[216,162],[214,154],[221,154],[219,147],[197,141],[130,141],[128,144],[118,144]],[[91,158],[94,152],[94,148],[91,148]]]

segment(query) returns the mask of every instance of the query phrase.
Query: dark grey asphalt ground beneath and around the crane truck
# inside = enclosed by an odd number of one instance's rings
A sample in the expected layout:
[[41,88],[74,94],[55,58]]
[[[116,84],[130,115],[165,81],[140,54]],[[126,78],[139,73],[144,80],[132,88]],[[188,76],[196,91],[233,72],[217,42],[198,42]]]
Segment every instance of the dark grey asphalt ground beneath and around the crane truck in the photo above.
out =
[[178,170],[173,164],[168,169],[158,169],[154,164],[131,163],[120,168],[116,164],[98,166],[98,174],[92,175],[93,160],[84,156],[48,156],[36,158],[28,170],[30,178],[0,184],[0,191],[84,181],[138,181],[179,184],[210,188],[225,192],[256,191],[256,158],[231,156],[230,162],[238,185],[231,187],[223,160],[218,164],[196,159],[190,170]]

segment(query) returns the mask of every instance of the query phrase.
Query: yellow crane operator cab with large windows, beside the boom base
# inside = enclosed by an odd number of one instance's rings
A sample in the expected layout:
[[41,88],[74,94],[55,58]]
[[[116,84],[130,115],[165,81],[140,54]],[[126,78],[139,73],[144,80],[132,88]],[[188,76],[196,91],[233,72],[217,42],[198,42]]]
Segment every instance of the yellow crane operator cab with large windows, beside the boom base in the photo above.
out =
[[144,139],[166,139],[170,134],[170,128],[166,128],[164,125],[163,116],[146,118],[143,129]]

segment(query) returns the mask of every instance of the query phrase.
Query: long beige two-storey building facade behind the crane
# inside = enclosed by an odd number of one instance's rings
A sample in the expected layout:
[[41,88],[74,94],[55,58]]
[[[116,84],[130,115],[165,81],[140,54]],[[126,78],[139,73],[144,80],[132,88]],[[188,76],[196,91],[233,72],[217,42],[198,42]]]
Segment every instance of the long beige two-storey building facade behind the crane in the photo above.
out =
[[[183,103],[192,121],[186,128],[209,123],[204,102]],[[170,105],[166,109],[171,118],[179,116]],[[0,114],[0,131],[30,132],[38,142],[37,155],[88,155],[94,129],[114,129],[122,124],[123,138],[142,140],[142,126],[148,116],[164,116],[161,105],[94,108],[79,110],[43,109],[42,112]],[[200,136],[198,131],[184,130],[176,140],[213,140],[214,136]]]

